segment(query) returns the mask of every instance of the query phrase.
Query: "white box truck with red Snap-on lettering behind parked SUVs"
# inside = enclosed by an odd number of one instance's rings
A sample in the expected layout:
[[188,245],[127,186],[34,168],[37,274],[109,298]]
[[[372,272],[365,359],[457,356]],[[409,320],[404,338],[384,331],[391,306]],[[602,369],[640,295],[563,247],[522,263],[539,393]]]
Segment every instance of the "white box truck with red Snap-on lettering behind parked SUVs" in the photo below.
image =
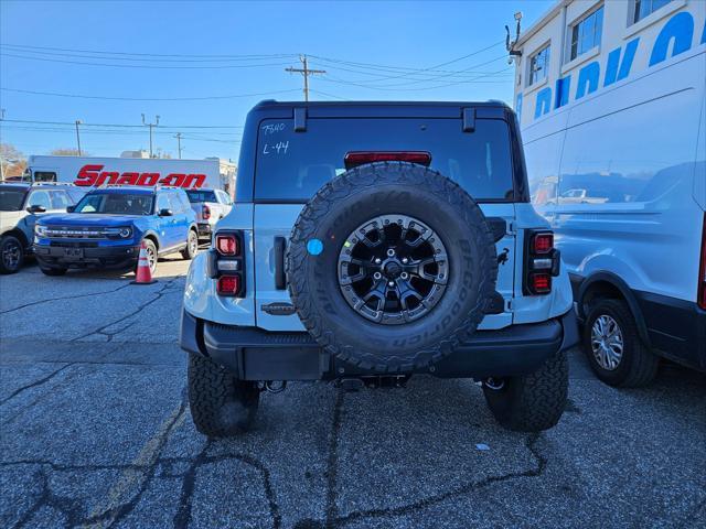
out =
[[223,190],[217,160],[32,155],[24,180],[83,187],[117,184]]

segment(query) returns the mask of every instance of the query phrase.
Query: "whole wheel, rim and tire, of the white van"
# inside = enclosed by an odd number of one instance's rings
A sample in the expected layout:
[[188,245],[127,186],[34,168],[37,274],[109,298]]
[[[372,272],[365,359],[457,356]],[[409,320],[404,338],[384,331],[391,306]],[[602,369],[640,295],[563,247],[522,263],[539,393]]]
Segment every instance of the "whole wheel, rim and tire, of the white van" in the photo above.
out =
[[640,339],[630,307],[620,300],[600,300],[591,306],[584,349],[596,376],[610,386],[644,386],[654,379],[660,365]]

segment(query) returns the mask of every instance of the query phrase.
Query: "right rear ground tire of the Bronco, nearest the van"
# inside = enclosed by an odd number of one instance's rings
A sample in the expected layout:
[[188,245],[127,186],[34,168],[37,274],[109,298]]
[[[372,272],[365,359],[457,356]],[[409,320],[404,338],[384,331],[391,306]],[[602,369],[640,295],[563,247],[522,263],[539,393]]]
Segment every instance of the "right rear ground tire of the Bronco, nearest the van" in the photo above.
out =
[[530,375],[489,378],[483,395],[490,411],[504,428],[515,432],[541,432],[561,418],[569,388],[566,353],[549,357]]

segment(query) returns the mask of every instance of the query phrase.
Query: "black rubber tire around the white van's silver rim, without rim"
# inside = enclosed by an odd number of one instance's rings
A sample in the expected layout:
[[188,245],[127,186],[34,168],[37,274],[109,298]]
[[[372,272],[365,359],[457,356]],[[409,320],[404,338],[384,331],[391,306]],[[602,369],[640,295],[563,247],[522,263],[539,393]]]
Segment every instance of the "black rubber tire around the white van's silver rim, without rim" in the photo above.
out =
[[[592,350],[590,348],[590,335],[591,326],[597,313],[605,313],[606,311],[612,311],[614,315],[620,320],[618,324],[623,335],[623,357],[621,361],[628,361],[628,370],[625,375],[620,379],[606,378],[603,374],[598,370],[598,367],[592,359]],[[629,347],[625,347],[625,345]],[[588,355],[589,363],[596,376],[603,382],[619,387],[619,388],[639,388],[646,386],[654,377],[656,377],[657,369],[660,367],[660,358],[653,354],[650,348],[640,338],[638,331],[638,324],[632,315],[632,311],[628,304],[622,300],[603,299],[591,306],[588,317],[586,320],[586,327],[584,330],[584,349]],[[629,350],[628,357],[625,352]]]

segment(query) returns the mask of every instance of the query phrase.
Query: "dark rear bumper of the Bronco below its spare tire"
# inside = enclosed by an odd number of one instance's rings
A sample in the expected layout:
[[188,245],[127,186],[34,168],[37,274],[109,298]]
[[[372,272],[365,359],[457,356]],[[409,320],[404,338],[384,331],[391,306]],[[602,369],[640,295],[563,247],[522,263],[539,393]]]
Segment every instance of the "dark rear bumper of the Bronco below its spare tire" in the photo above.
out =
[[[308,333],[275,333],[197,320],[185,311],[181,347],[213,358],[242,380],[332,380],[377,376],[325,353]],[[547,322],[478,331],[427,373],[441,378],[524,375],[578,343],[574,311]]]

